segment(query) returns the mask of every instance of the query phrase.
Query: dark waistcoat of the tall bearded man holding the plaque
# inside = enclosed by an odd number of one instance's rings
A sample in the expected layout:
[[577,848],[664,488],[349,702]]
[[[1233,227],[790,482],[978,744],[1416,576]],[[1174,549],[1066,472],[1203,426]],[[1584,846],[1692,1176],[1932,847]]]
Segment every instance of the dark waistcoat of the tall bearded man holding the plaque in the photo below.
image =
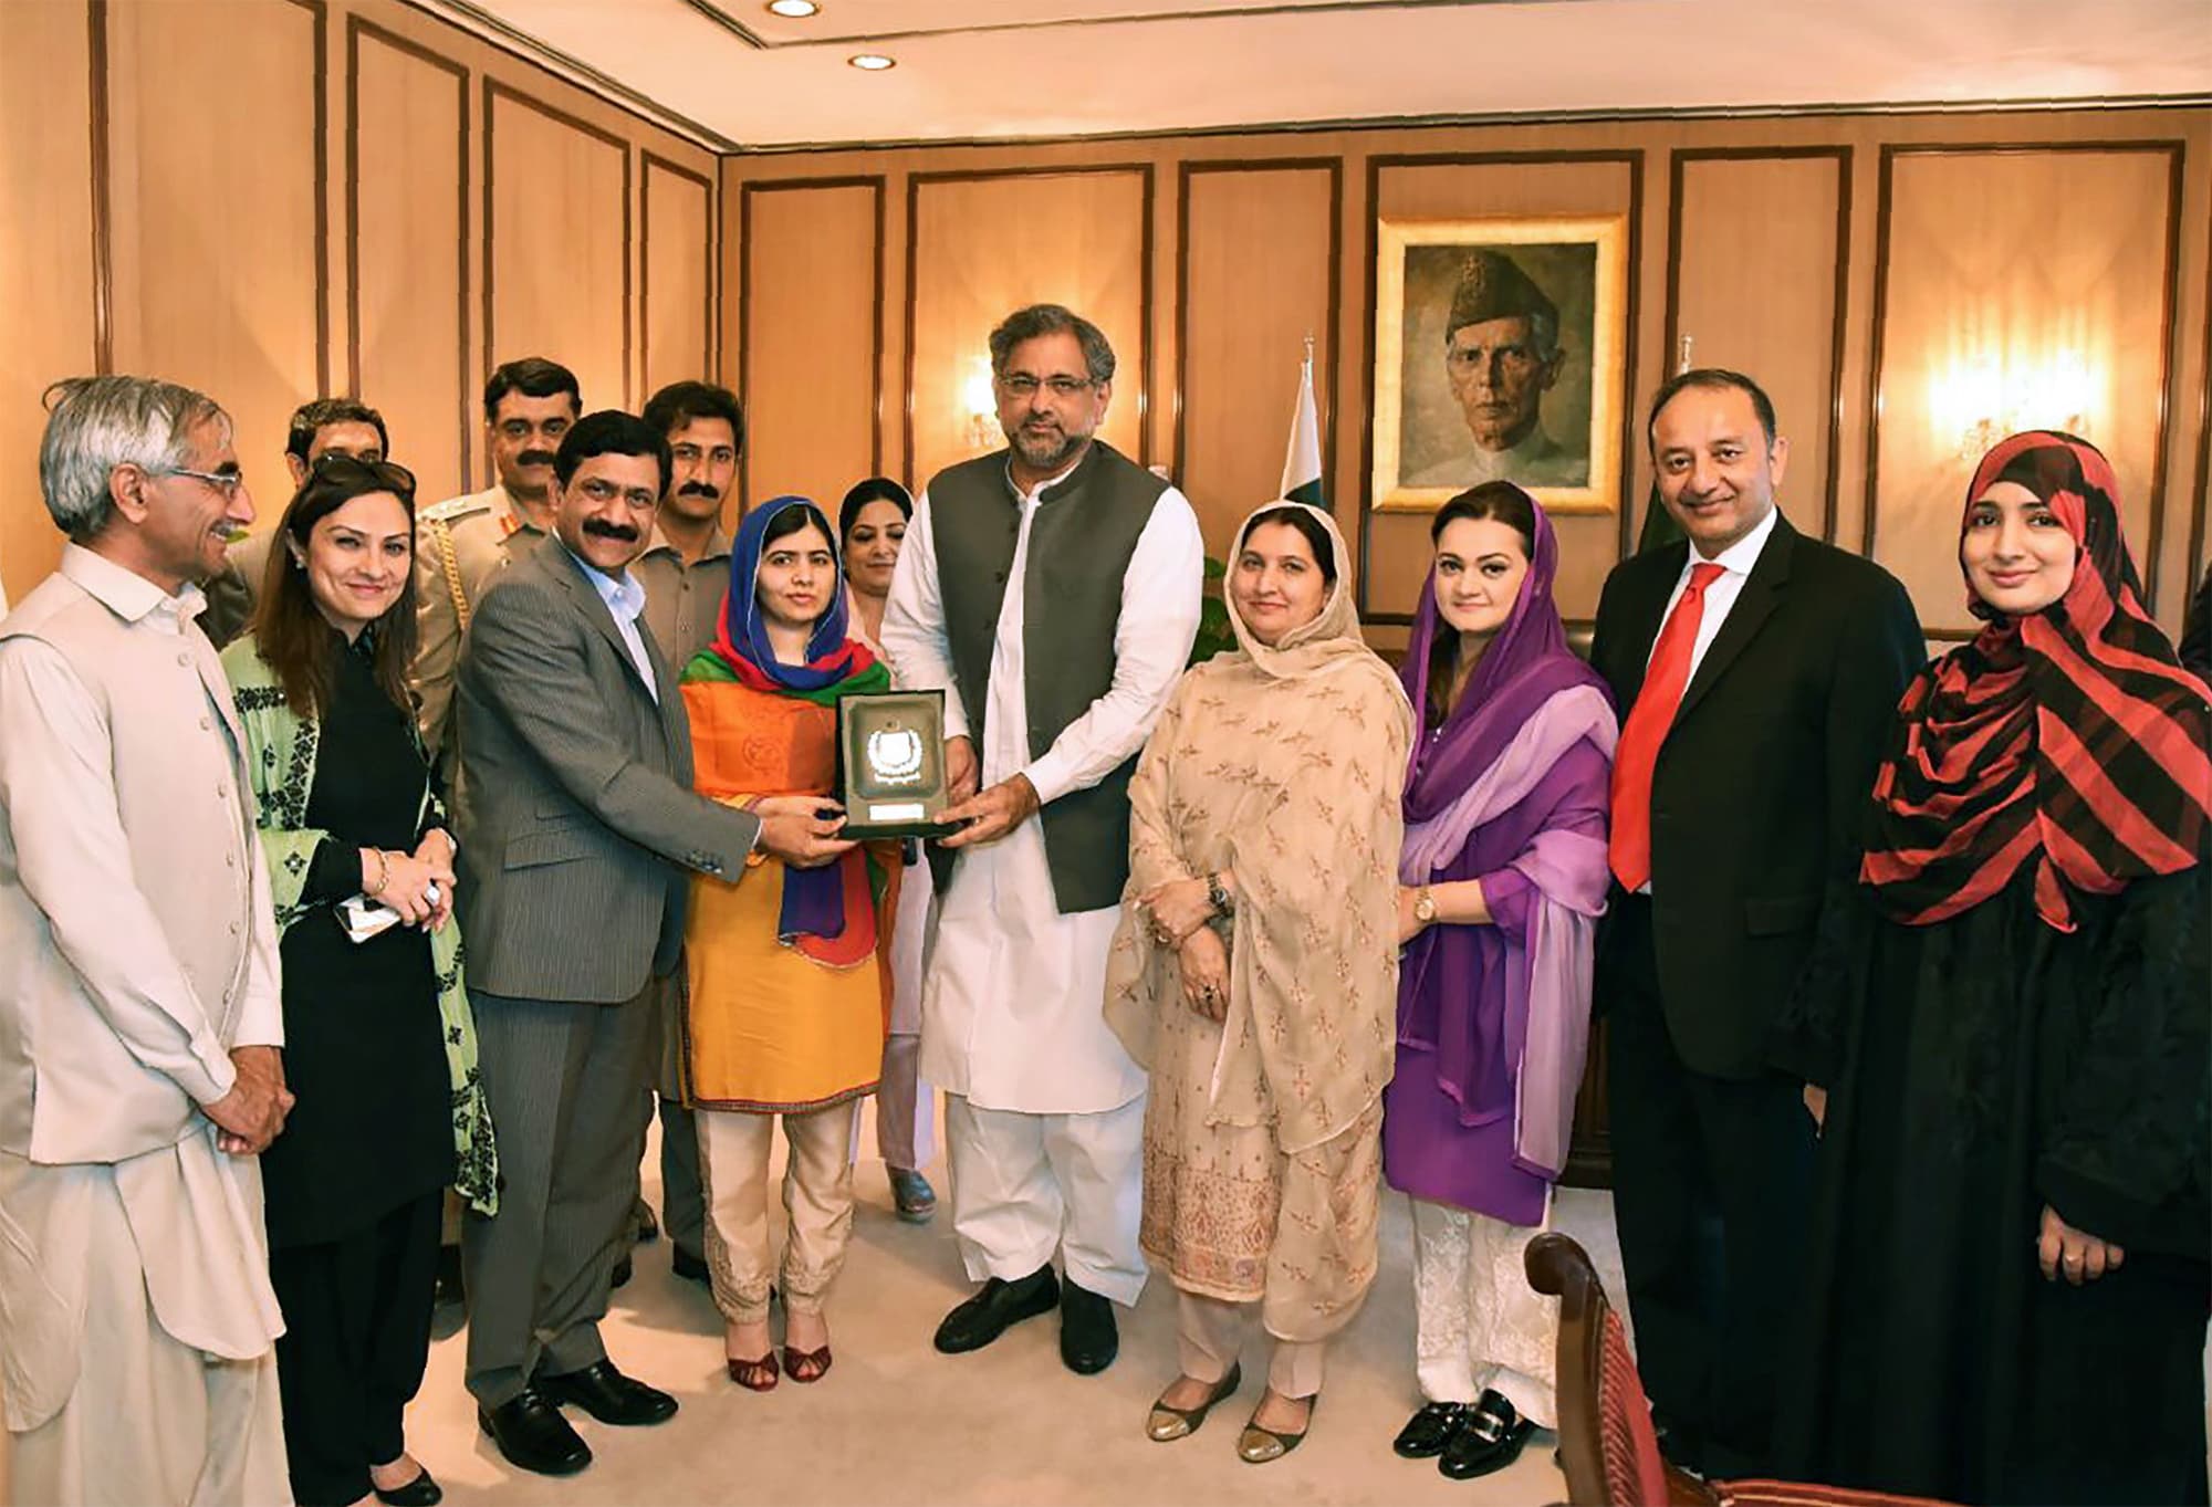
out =
[[[1064,482],[1037,499],[1022,570],[1022,665],[1029,700],[1029,756],[1040,758],[1062,729],[1113,687],[1121,577],[1152,504],[1168,484],[1093,440]],[[940,471],[929,482],[929,530],[938,550],[938,592],[953,678],[982,756],[991,696],[991,645],[1006,603],[1022,504],[1006,475],[1006,451]],[[1044,857],[1060,910],[1121,904],[1128,882],[1128,778],[1133,753],[1086,791],[1042,811]],[[951,875],[940,868],[940,882]]]

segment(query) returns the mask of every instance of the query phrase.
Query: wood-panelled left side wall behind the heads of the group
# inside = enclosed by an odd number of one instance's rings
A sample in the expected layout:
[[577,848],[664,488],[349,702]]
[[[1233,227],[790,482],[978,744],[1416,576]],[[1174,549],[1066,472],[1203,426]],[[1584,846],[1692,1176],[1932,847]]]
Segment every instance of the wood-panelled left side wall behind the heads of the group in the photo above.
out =
[[[405,0],[0,11],[11,594],[60,552],[35,486],[38,398],[60,376],[206,387],[239,422],[265,528],[288,493],[285,422],[325,391],[385,409],[429,497],[458,488],[482,464],[487,325],[580,367],[599,407],[639,400],[650,278],[653,367],[719,367],[717,157],[495,42]],[[653,219],[684,221],[650,247],[628,232],[639,164]],[[480,190],[493,166],[498,201]]]

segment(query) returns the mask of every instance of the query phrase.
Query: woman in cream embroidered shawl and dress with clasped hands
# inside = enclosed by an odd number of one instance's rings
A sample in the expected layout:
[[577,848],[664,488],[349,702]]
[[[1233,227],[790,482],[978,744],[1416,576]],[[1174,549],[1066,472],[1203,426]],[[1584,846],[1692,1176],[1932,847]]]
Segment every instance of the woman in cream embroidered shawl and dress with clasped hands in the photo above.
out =
[[1175,687],[1130,787],[1106,1019],[1152,1074],[1141,1240],[1179,1295],[1181,1377],[1146,1432],[1181,1438],[1237,1390],[1256,1304],[1256,1465],[1305,1438],[1376,1273],[1411,714],[1327,513],[1270,504],[1230,561],[1239,650]]

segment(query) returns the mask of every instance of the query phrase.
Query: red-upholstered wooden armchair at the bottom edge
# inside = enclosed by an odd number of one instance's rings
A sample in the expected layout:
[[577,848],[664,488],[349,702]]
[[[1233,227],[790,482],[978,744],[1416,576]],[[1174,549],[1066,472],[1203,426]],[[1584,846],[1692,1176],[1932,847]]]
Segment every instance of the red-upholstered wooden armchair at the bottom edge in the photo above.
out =
[[1659,1452],[1621,1315],[1566,1235],[1528,1242],[1528,1286],[1559,1299],[1559,1467],[1575,1507],[1944,1507],[1798,1480],[1699,1480]]

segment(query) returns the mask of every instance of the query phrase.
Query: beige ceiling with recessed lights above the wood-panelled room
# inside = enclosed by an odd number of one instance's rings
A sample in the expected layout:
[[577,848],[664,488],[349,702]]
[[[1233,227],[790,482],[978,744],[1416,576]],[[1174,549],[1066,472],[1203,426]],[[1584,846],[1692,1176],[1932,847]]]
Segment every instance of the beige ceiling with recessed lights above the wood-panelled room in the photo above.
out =
[[[2212,0],[416,4],[723,150],[2212,93]],[[858,51],[898,66],[860,73]]]

